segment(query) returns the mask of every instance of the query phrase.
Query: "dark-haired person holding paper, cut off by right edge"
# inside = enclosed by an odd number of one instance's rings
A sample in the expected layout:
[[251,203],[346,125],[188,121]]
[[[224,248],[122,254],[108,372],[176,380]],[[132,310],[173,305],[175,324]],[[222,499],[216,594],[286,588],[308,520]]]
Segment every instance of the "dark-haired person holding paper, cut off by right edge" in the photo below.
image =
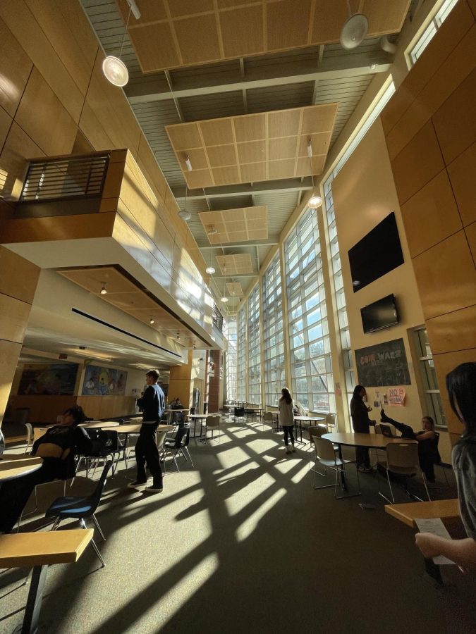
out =
[[476,363],[461,363],[446,375],[451,409],[465,430],[453,447],[451,462],[458,486],[464,540],[448,540],[431,533],[417,533],[417,547],[427,559],[444,555],[461,568],[476,570]]

